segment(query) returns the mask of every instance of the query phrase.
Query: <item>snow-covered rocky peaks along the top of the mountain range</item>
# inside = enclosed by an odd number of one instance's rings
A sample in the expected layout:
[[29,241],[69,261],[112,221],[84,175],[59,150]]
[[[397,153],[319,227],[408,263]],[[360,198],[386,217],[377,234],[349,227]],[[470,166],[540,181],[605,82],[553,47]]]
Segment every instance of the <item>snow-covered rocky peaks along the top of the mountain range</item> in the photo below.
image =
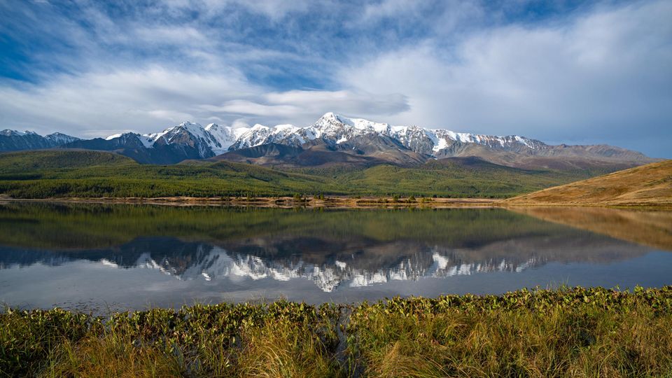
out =
[[[115,134],[106,140],[117,139],[126,134]],[[429,130],[417,126],[391,126],[361,118],[347,118],[335,113],[326,113],[316,123],[307,127],[295,125],[254,125],[233,129],[211,123],[206,127],[198,123],[184,122],[153,134],[134,134],[146,148],[177,144],[196,148],[201,158],[210,158],[227,151],[283,144],[303,146],[309,143],[323,143],[328,146],[357,145],[362,137],[387,137],[409,151],[428,156],[442,153],[454,144],[479,144],[489,148],[542,148],[545,144],[525,137],[496,137],[489,135],[451,132],[449,130]],[[370,140],[368,140],[370,142]],[[342,148],[346,149],[346,148]],[[352,149],[352,148],[350,148]]]

